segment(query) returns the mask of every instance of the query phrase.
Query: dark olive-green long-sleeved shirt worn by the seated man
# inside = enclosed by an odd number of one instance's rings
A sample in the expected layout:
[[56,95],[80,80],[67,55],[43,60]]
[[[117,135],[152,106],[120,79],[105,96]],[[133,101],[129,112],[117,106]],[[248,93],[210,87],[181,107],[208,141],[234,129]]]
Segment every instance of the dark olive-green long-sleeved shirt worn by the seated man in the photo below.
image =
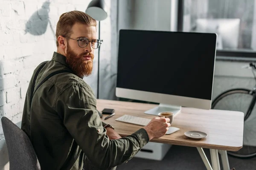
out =
[[[30,110],[30,89],[38,67],[29,83],[21,129],[29,136],[42,170],[82,170],[84,159],[107,170],[130,160],[148,143],[143,128],[110,140],[96,110],[92,89],[72,73],[57,74],[44,82],[35,92]],[[35,86],[59,70],[72,71],[66,58],[54,52],[52,60],[39,72]]]

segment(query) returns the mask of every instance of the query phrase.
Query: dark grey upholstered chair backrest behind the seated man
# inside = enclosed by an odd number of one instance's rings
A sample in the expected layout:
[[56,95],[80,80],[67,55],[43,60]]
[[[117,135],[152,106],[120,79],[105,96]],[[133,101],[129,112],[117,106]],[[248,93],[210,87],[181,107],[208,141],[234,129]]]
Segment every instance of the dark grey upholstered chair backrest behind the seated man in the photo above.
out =
[[9,154],[10,170],[41,170],[35,150],[26,133],[7,117],[1,119]]

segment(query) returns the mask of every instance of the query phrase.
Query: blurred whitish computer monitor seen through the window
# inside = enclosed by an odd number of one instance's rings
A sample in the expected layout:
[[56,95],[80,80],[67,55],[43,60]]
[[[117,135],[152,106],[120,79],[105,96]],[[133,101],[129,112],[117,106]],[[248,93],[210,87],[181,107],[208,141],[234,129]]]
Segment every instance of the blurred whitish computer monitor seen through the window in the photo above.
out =
[[196,32],[216,33],[217,49],[237,49],[239,42],[240,19],[197,19]]

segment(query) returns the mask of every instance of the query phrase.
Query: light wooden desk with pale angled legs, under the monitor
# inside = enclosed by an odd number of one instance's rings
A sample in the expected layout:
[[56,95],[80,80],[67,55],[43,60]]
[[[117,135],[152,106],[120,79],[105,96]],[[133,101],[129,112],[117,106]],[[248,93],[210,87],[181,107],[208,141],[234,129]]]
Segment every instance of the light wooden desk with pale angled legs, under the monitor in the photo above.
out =
[[[145,114],[144,111],[156,106],[145,103],[97,100],[97,109],[99,111],[102,111],[103,108],[115,109],[116,115],[107,120],[104,120],[106,116],[103,116],[102,121],[113,125],[120,136],[131,135],[142,126],[118,122],[115,121],[116,118],[128,114],[152,119],[155,116]],[[178,127],[180,130],[170,135],[162,136],[159,139],[153,139],[150,142],[197,147],[208,170],[212,170],[212,167],[214,170],[220,170],[218,152],[221,154],[224,169],[230,170],[227,150],[237,151],[243,145],[244,113],[242,112],[182,108],[181,113],[175,116],[172,126]],[[188,139],[184,135],[184,132],[188,130],[203,131],[208,136],[201,140]],[[202,148],[210,149],[212,167]]]

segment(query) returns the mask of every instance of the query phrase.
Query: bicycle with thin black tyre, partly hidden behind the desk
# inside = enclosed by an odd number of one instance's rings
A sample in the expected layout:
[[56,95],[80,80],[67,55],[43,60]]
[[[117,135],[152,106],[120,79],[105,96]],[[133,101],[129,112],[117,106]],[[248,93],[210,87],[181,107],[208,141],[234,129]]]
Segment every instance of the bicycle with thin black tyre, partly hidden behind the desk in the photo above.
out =
[[256,65],[250,62],[243,68],[252,70],[255,85],[252,89],[233,88],[219,94],[212,101],[212,109],[241,111],[244,113],[243,147],[236,152],[227,151],[231,156],[239,158],[252,158],[256,156]]

